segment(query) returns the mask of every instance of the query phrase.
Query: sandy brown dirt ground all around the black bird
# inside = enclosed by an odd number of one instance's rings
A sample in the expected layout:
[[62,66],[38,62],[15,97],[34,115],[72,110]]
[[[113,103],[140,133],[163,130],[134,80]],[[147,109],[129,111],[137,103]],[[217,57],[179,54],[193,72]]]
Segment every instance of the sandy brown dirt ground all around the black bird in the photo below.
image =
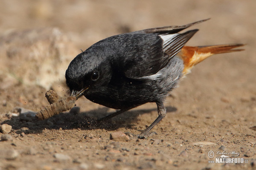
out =
[[[0,170],[256,169],[255,8],[254,0],[1,0],[0,123],[12,130],[0,133]],[[81,50],[111,35],[206,18],[188,45],[244,43],[245,51],[196,65],[147,139],[110,135],[139,134],[157,117],[154,103],[94,125],[114,110],[82,97],[80,110],[35,119],[47,90],[67,96],[64,72]],[[244,162],[216,163],[222,155]]]

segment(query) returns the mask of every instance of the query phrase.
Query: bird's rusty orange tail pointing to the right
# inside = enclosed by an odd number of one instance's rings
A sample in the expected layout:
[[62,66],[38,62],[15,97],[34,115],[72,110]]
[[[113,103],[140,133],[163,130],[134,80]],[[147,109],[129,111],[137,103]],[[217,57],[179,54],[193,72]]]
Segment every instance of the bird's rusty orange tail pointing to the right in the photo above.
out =
[[210,57],[213,54],[242,51],[244,49],[233,48],[241,47],[243,45],[244,44],[211,45],[199,47],[184,46],[178,54],[184,62],[183,75],[190,73],[190,70],[194,65],[203,61],[207,57]]

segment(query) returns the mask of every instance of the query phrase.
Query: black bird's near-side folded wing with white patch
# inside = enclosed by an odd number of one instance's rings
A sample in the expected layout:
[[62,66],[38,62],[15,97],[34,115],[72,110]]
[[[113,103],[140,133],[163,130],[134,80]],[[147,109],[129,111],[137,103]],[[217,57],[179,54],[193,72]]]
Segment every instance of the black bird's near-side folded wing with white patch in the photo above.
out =
[[133,34],[137,38],[134,40],[136,45],[132,49],[125,49],[127,53],[122,63],[125,76],[155,78],[154,74],[164,68],[197,31],[195,29],[182,34]]

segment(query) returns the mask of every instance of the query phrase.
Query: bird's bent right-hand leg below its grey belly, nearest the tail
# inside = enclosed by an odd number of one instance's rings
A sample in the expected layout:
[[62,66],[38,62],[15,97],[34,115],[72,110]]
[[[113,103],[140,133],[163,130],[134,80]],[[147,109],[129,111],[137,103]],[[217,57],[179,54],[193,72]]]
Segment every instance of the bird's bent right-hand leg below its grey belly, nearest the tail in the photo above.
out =
[[143,130],[142,133],[140,133],[139,135],[140,139],[145,139],[146,136],[148,136],[149,131],[166,116],[166,108],[164,107],[163,102],[156,102],[156,103],[157,103],[158,117],[150,126],[148,126],[145,130]]

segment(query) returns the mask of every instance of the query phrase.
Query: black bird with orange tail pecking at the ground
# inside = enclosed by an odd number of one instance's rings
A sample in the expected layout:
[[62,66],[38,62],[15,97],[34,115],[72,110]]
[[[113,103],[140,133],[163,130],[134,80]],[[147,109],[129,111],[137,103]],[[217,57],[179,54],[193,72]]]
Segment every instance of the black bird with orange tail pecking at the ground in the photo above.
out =
[[85,96],[118,110],[99,122],[145,103],[156,103],[157,118],[138,135],[140,139],[146,138],[166,116],[166,96],[194,65],[213,54],[243,50],[237,49],[244,45],[239,43],[185,46],[198,29],[180,31],[206,20],[133,31],[96,42],[78,54],[66,70],[70,95],[76,99]]

